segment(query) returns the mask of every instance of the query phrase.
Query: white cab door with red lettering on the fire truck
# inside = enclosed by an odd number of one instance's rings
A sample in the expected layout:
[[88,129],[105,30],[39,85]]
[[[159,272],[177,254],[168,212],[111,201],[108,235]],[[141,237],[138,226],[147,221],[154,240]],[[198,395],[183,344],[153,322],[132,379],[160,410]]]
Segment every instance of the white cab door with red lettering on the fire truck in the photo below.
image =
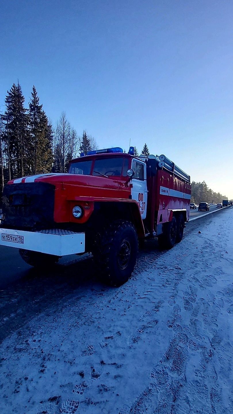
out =
[[146,219],[147,207],[147,184],[146,184],[146,164],[138,159],[133,159],[132,168],[135,175],[132,178],[131,195],[136,200],[141,213],[141,218]]

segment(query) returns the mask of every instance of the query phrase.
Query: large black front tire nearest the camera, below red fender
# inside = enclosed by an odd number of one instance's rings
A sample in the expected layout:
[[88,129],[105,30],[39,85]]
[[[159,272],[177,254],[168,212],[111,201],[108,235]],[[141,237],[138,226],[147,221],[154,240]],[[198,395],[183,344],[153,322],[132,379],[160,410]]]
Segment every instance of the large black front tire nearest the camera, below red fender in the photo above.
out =
[[98,232],[92,250],[103,282],[121,286],[131,277],[138,257],[138,235],[130,221],[117,220]]

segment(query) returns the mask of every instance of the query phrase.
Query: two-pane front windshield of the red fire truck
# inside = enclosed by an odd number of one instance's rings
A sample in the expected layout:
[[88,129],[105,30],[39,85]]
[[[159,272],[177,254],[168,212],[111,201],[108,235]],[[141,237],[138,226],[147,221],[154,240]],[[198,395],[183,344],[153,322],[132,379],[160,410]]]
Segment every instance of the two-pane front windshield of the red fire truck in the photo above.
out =
[[[92,168],[92,162],[94,162]],[[94,161],[77,161],[70,164],[70,174],[84,174],[90,176],[92,171],[93,176],[127,176],[128,159],[121,157],[109,157],[95,159]]]

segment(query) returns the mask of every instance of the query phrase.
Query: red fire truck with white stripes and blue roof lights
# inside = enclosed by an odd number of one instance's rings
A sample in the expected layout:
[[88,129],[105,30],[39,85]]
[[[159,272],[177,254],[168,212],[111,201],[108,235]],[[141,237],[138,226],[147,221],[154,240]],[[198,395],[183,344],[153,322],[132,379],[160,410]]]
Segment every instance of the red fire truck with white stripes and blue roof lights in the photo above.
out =
[[32,266],[92,252],[114,286],[133,272],[138,244],[158,238],[172,248],[189,220],[190,177],[164,155],[134,156],[134,148],[90,151],[68,173],[8,182],[2,197],[0,244],[19,248]]

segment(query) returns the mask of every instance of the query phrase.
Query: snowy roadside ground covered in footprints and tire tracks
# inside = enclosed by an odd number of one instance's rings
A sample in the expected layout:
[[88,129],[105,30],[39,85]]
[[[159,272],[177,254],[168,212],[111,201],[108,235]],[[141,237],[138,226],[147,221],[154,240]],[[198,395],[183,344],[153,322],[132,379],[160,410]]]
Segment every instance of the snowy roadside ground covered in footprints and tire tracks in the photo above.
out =
[[233,209],[213,216],[8,336],[0,413],[233,412]]

